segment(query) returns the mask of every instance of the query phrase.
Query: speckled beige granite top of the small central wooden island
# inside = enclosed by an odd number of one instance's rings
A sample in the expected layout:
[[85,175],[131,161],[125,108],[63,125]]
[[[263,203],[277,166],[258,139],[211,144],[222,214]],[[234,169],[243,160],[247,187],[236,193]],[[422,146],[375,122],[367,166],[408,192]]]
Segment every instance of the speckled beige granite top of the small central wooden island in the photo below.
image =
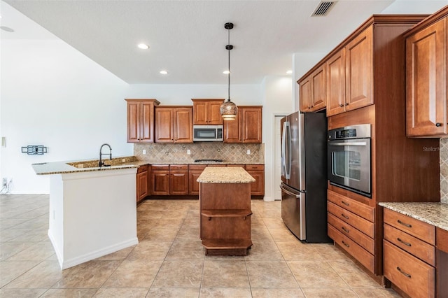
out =
[[253,183],[255,179],[241,166],[207,166],[197,178],[200,183]]

